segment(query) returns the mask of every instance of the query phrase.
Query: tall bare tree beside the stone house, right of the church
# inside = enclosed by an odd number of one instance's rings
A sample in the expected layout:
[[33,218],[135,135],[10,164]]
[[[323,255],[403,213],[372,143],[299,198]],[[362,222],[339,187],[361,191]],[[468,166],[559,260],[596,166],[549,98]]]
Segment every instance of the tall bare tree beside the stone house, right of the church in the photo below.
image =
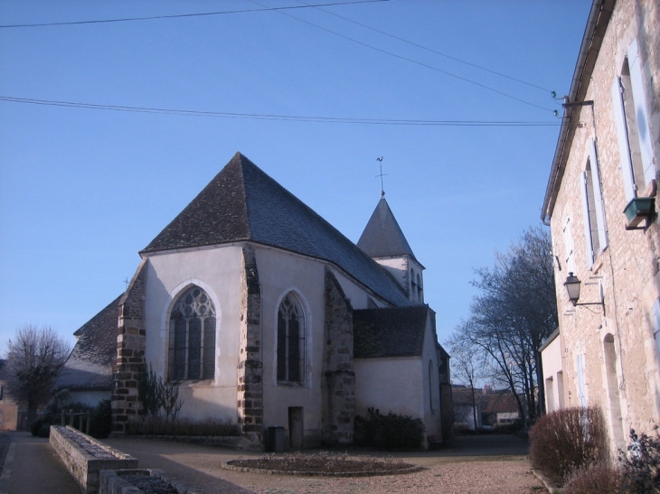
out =
[[495,369],[495,380],[514,393],[527,424],[542,413],[542,368],[538,348],[557,328],[552,241],[549,232],[529,228],[495,267],[476,270],[479,294],[455,338],[478,349]]

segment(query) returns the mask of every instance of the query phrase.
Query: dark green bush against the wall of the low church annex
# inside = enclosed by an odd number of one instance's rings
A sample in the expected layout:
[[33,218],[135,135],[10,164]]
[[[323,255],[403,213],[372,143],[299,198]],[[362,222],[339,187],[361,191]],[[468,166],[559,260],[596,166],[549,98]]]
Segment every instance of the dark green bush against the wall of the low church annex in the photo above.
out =
[[381,415],[369,408],[368,417],[355,417],[354,443],[357,446],[378,450],[416,450],[424,438],[424,423],[420,418],[396,415],[391,412]]

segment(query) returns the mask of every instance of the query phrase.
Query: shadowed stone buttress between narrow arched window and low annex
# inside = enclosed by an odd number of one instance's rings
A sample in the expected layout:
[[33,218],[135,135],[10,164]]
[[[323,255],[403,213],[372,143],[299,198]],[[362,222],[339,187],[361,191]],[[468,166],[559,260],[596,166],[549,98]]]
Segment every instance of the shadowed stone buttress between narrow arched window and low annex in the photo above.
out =
[[353,443],[355,415],[353,308],[327,267],[323,357],[323,441],[350,444]]

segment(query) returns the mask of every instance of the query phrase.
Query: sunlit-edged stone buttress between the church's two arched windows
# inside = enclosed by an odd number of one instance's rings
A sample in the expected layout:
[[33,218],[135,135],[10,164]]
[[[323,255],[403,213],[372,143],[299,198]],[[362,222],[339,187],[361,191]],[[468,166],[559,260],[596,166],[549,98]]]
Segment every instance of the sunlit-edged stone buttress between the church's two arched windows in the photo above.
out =
[[254,249],[250,247],[243,247],[240,285],[239,424],[244,435],[259,443],[263,428],[261,285]]

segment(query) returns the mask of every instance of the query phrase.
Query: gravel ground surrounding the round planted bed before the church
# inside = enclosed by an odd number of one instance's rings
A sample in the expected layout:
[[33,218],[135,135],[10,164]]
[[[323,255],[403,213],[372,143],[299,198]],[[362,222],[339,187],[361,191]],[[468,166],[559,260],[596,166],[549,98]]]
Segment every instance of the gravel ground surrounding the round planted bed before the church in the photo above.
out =
[[258,457],[213,446],[153,440],[108,439],[140,468],[158,468],[207,494],[530,494],[543,493],[527,460],[527,443],[513,435],[457,437],[434,452],[356,452],[392,456],[420,465],[423,471],[366,478],[293,477],[222,469],[222,462]]

